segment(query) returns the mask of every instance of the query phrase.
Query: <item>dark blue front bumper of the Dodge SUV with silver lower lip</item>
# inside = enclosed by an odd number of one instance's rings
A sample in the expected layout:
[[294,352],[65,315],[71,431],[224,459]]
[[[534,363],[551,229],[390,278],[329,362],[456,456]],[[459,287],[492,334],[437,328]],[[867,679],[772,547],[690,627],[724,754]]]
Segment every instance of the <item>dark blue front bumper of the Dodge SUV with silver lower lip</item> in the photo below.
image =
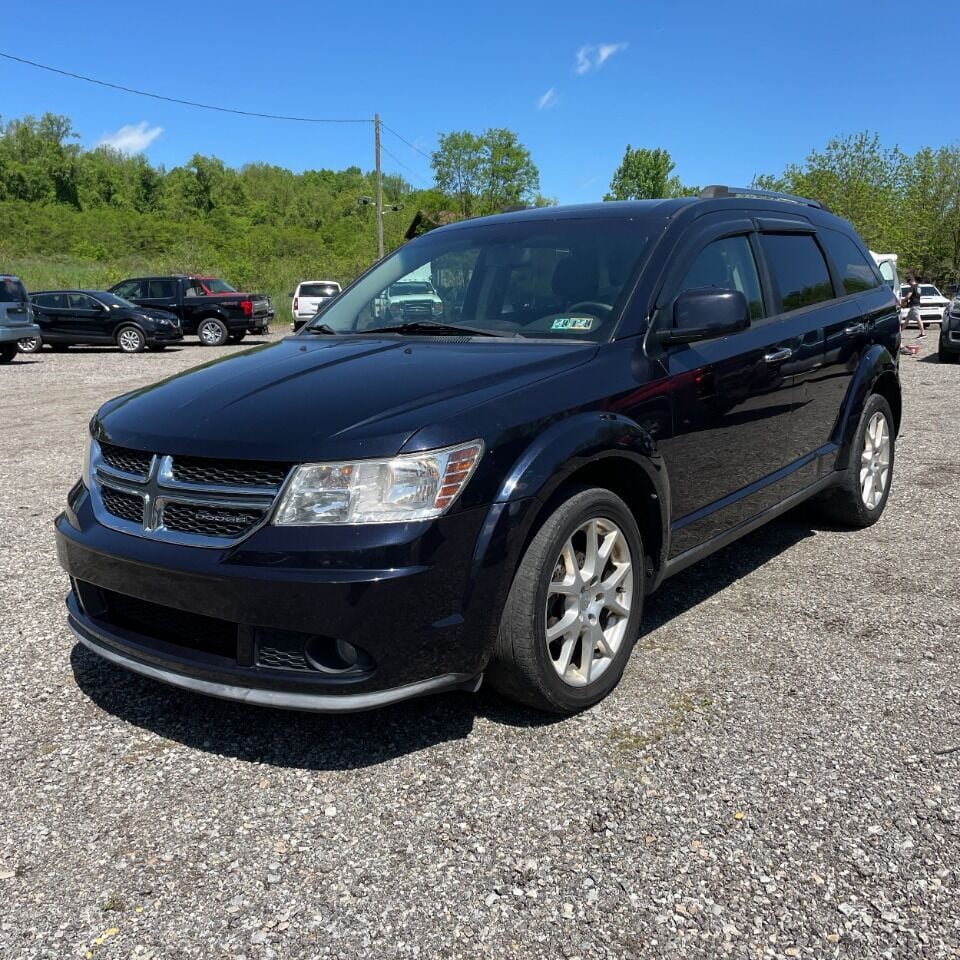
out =
[[[68,622],[129,670],[248,703],[340,712],[476,689],[513,569],[506,545],[525,513],[267,526],[221,551],[110,530],[77,485],[56,521]],[[478,538],[505,562],[480,562]],[[337,640],[361,652],[359,667],[328,669],[323,651]]]

